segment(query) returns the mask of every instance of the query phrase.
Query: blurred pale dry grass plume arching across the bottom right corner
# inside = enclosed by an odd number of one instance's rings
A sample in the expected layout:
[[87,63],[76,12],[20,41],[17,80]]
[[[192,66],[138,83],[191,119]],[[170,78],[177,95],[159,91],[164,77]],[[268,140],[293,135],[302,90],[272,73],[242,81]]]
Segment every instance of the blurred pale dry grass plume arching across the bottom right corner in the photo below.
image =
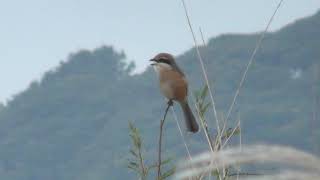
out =
[[[320,159],[316,156],[286,146],[255,145],[217,152],[206,152],[194,156],[193,160],[180,163],[176,179],[187,179],[208,174],[225,166],[248,163],[276,163],[294,165],[301,171],[281,171],[280,174],[255,176],[242,179],[320,179]],[[240,178],[241,179],[241,178]]]

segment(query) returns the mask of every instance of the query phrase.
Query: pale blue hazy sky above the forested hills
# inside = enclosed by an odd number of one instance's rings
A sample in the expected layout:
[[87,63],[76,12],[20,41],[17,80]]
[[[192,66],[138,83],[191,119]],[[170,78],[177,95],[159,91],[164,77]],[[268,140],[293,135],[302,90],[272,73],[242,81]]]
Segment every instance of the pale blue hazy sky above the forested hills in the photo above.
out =
[[[265,27],[278,0],[186,0],[206,38]],[[320,0],[285,0],[272,30],[315,13]],[[155,53],[193,44],[180,0],[0,0],[0,102],[66,60],[103,44],[124,50],[141,71]]]

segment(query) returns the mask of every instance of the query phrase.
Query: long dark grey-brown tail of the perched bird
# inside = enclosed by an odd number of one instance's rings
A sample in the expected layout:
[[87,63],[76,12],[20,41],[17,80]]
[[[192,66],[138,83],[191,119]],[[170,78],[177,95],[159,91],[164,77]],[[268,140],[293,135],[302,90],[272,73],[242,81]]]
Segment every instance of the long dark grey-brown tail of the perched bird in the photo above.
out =
[[183,111],[183,115],[184,115],[184,119],[186,122],[186,126],[187,126],[187,130],[193,133],[196,133],[199,131],[199,126],[198,123],[196,121],[196,119],[193,116],[193,113],[190,109],[190,106],[188,104],[187,101],[184,102],[180,102],[182,111]]

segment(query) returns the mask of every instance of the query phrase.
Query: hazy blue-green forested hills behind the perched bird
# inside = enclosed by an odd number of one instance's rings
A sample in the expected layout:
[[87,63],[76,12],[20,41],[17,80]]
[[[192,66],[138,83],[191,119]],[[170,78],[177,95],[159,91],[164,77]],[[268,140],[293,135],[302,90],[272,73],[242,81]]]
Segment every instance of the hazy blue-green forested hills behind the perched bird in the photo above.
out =
[[[200,49],[220,115],[231,103],[258,37],[221,35]],[[320,78],[313,75],[315,67],[320,69],[319,47],[320,12],[267,34],[230,120],[232,124],[241,115],[245,144],[319,148],[314,139],[320,138],[320,119],[312,121],[314,94],[320,94]],[[190,89],[200,89],[204,83],[195,49],[177,56],[177,62],[188,74]],[[82,50],[0,105],[1,179],[132,178],[126,169],[128,121],[141,130],[152,159],[166,106],[153,70],[131,75],[133,69],[124,53],[112,47]],[[172,116],[165,131],[166,156],[183,158]],[[202,132],[187,139],[193,153],[207,150]]]

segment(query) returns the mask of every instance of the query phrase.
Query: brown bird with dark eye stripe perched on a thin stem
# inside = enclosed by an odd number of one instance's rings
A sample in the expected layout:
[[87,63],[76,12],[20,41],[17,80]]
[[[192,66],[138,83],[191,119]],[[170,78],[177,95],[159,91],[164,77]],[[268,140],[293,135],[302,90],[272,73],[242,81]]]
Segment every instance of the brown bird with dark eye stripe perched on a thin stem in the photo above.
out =
[[169,53],[159,53],[150,61],[158,74],[160,91],[169,100],[168,103],[178,102],[183,111],[187,131],[198,132],[199,125],[188,104],[188,81],[175,62],[174,56]]

